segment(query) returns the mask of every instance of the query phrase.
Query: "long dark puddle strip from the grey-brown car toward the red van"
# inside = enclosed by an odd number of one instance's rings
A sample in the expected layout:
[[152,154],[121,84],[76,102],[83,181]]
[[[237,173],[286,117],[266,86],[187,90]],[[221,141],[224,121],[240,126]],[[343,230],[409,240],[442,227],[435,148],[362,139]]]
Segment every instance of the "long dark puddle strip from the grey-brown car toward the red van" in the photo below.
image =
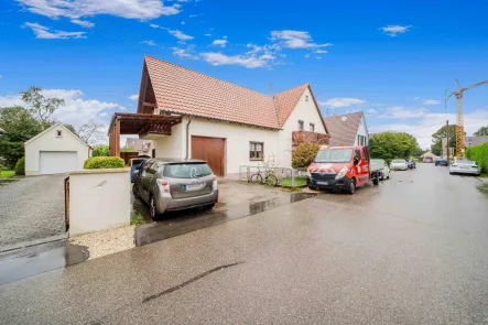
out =
[[316,196],[316,193],[291,193],[262,202],[247,202],[228,205],[224,210],[192,209],[169,213],[158,223],[141,225],[135,228],[135,246],[175,237],[202,228],[252,216],[279,206],[300,202]]

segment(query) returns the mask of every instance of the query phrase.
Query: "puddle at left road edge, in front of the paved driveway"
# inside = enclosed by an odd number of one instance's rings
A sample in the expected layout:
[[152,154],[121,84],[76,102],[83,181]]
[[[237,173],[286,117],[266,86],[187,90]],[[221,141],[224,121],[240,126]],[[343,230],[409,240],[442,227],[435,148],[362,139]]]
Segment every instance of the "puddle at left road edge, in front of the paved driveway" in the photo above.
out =
[[88,259],[88,248],[65,245],[35,253],[12,256],[0,261],[0,285],[35,274],[65,268]]

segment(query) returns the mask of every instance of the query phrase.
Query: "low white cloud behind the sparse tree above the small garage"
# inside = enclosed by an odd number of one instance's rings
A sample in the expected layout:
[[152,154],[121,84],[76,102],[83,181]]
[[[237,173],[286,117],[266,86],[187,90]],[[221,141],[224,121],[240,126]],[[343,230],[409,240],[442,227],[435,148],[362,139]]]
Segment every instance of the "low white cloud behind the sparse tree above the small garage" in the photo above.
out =
[[[64,99],[65,105],[54,112],[54,118],[74,127],[78,127],[97,116],[108,116],[112,110],[124,110],[124,107],[117,102],[85,99],[83,91],[76,89],[44,89],[41,94],[47,98]],[[0,107],[13,105],[26,106],[19,95],[0,96]]]

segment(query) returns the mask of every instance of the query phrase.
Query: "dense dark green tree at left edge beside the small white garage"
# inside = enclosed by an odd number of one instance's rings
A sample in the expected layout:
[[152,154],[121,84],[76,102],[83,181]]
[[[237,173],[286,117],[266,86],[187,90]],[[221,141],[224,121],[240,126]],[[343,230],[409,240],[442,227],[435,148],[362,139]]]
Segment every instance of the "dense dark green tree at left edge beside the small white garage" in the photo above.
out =
[[9,167],[24,155],[24,142],[42,131],[41,123],[20,106],[0,108],[0,128],[6,131],[0,137],[0,152]]

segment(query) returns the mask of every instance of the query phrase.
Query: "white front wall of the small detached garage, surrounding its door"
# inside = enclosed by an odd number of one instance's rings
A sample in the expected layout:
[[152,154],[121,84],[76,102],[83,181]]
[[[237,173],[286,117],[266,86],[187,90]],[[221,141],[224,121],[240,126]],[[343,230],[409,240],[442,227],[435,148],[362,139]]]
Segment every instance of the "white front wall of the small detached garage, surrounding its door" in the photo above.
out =
[[[62,131],[61,137],[57,137],[58,130]],[[77,169],[80,170],[90,154],[88,145],[63,126],[56,124],[25,144],[25,175],[39,175],[41,151],[76,151],[78,153]]]

